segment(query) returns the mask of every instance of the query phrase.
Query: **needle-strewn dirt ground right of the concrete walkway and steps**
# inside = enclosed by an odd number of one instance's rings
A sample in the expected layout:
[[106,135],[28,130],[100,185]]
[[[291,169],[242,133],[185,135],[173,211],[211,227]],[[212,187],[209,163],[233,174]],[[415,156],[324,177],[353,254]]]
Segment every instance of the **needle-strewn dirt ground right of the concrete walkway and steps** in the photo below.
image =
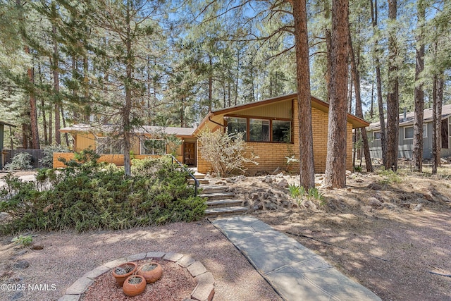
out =
[[[252,215],[321,254],[383,300],[451,300],[451,165],[443,165],[437,176],[427,172],[428,166],[424,170],[410,173],[401,166],[397,176],[380,169],[350,173],[347,188],[341,190],[324,188],[323,176],[317,175],[323,200],[304,199],[299,204],[280,183],[298,179],[285,173],[212,182],[228,185],[252,208]],[[187,228],[200,232],[199,223],[187,223],[184,231]],[[215,230],[207,232],[211,231]],[[52,238],[57,233],[39,233],[39,241],[46,235]],[[71,234],[71,239],[90,236]],[[202,249],[196,250],[197,257],[205,257]],[[9,255],[0,250],[0,259]],[[16,261],[26,258],[14,256]],[[234,285],[239,289],[241,284]],[[218,293],[214,300],[221,298]],[[263,295],[259,300],[266,300]]]

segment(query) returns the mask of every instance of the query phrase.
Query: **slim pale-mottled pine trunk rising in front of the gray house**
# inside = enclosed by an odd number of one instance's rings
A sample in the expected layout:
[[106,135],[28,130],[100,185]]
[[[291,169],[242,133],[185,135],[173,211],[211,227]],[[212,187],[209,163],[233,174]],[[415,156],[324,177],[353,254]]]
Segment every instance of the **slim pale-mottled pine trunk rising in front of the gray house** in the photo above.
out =
[[423,120],[424,120],[424,91],[420,81],[420,73],[424,70],[424,20],[426,18],[426,5],[424,0],[419,0],[418,22],[416,36],[416,63],[415,63],[415,90],[414,90],[414,149],[412,150],[411,168],[413,171],[423,171]]

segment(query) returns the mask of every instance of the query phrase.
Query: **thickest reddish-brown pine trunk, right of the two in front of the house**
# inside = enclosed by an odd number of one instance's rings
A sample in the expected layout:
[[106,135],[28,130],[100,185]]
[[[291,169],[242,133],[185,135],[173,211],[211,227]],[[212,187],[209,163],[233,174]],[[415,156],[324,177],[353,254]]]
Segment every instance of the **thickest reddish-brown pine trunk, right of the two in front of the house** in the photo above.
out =
[[346,186],[348,0],[332,1],[332,56],[326,187]]

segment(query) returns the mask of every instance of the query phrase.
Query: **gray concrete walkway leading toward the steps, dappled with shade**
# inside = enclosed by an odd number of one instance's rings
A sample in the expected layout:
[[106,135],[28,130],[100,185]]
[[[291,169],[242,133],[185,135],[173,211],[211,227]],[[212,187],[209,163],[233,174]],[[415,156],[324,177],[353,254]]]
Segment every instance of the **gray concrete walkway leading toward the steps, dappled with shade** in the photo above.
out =
[[212,221],[284,300],[381,300],[318,254],[252,216]]

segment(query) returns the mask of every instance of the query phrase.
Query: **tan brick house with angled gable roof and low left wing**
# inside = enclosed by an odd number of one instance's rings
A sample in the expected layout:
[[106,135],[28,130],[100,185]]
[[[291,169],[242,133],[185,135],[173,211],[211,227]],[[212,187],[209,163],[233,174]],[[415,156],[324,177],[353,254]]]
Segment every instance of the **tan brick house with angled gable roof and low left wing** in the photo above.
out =
[[[326,169],[327,135],[328,135],[329,104],[315,97],[311,97],[311,113],[314,137],[315,172],[321,173]],[[177,150],[177,155],[183,163],[196,166],[201,173],[211,170],[209,162],[199,154],[197,134],[202,130],[226,130],[229,132],[244,132],[245,140],[254,154],[259,156],[259,165],[249,164],[247,173],[255,174],[260,171],[273,172],[276,168],[288,169],[285,157],[295,156],[299,159],[299,121],[297,118],[297,94],[265,99],[259,102],[241,104],[226,109],[211,111],[197,128],[163,128],[167,133],[173,133],[183,142]],[[347,168],[352,169],[352,129],[363,128],[369,123],[351,114],[347,115]],[[86,127],[85,127],[86,128]],[[74,150],[80,151],[87,147],[94,147],[101,152],[106,149],[108,154],[120,151],[111,141],[110,144],[98,141],[101,135],[80,130],[80,126],[63,128],[64,133],[71,133],[74,137]],[[145,133],[144,135],[147,135]],[[152,135],[149,134],[152,140]],[[102,139],[102,138],[101,138]],[[107,142],[107,137],[103,138]],[[135,143],[136,144],[136,143]],[[108,147],[109,146],[109,147]],[[102,148],[103,147],[103,148]],[[134,148],[135,157],[141,157],[141,148]],[[59,155],[59,154],[58,154]],[[115,160],[116,161],[116,160]],[[54,160],[55,162],[55,160]],[[120,164],[120,162],[117,162]],[[123,164],[123,162],[122,162]],[[58,166],[58,165],[56,165]],[[54,165],[54,167],[56,167]],[[290,164],[290,169],[296,171],[299,164]]]

